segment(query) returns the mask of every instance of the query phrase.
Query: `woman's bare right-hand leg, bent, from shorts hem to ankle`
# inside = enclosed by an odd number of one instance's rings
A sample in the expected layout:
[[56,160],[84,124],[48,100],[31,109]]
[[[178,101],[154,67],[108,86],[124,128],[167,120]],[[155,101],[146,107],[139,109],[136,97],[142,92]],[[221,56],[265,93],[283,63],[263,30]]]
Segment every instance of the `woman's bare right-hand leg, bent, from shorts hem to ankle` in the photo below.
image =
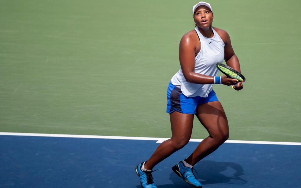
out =
[[228,120],[219,101],[198,105],[196,116],[207,129],[209,136],[205,138],[185,161],[195,165],[198,161],[211,154],[229,137]]

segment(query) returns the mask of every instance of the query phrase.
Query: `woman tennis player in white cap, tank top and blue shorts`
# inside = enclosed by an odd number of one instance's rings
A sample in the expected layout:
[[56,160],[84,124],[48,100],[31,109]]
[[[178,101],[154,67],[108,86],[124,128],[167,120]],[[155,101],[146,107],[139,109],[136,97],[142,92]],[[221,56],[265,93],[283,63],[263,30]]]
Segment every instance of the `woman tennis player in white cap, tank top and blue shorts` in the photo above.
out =
[[172,170],[188,184],[202,187],[193,173],[193,165],[215,151],[229,136],[227,117],[212,85],[234,86],[235,90],[243,88],[238,80],[217,77],[218,62],[225,60],[227,65],[239,72],[240,66],[228,33],[212,27],[214,16],[210,4],[199,2],[193,6],[192,13],[196,28],[184,34],[180,41],[181,68],[172,77],[167,89],[167,113],[170,114],[172,137],[160,144],[147,161],[136,166],[143,188],[155,188],[151,174],[153,167],[188,143],[194,115],[207,129],[209,136]]

